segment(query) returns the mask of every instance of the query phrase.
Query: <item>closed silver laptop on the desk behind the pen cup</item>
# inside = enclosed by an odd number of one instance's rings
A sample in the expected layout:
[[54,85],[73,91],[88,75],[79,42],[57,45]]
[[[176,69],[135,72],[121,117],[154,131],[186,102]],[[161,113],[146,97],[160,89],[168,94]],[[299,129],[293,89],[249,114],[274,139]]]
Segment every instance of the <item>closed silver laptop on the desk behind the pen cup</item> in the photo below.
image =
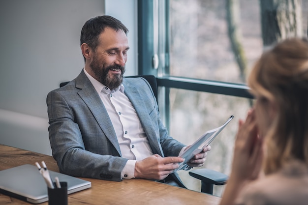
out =
[[[91,182],[50,171],[52,179],[67,182],[67,194],[91,187]],[[25,164],[0,171],[0,193],[20,200],[39,204],[48,201],[47,184],[34,165]]]

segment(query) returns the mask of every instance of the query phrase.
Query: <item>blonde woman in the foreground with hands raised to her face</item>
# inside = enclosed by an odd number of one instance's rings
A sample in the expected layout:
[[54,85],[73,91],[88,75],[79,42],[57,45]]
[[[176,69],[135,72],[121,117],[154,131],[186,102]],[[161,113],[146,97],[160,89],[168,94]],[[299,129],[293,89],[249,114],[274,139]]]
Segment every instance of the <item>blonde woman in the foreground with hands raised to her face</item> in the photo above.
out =
[[278,43],[248,77],[256,102],[239,121],[220,205],[308,204],[308,41]]

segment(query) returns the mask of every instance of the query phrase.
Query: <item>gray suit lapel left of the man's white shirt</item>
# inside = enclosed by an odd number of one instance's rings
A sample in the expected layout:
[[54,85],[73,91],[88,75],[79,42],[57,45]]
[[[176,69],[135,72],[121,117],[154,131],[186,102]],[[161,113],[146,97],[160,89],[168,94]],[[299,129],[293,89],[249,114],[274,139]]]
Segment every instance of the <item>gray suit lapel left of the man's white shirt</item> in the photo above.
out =
[[122,156],[118,138],[113,128],[112,122],[109,118],[109,115],[106,111],[106,108],[84,71],[82,71],[80,75],[76,78],[76,88],[81,89],[78,91],[78,95],[87,104],[88,108],[92,112],[92,115],[96,119],[96,122],[99,124],[105,136],[117,149],[119,155]]

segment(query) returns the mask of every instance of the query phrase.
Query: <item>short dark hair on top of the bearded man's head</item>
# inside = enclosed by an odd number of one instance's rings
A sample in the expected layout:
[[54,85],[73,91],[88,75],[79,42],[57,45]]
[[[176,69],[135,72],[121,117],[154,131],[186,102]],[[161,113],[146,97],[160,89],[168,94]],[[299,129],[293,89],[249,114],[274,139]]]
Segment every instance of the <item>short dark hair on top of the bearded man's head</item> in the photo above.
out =
[[[81,29],[80,45],[83,43],[95,50],[98,45],[98,36],[105,28],[111,28],[115,31],[123,30],[127,35],[128,29],[118,19],[111,16],[97,16],[88,20]],[[86,60],[86,59],[85,59]]]

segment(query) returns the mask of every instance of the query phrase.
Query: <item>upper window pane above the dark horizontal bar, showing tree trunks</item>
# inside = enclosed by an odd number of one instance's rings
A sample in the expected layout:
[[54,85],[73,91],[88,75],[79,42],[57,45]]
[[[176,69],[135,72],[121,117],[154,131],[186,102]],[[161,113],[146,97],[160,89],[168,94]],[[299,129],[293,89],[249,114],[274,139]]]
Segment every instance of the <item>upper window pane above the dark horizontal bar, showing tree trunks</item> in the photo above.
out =
[[[307,35],[307,0],[303,6],[300,0],[278,0],[276,10],[272,0],[169,2],[171,76],[245,83],[263,51],[262,38],[270,45],[281,38]],[[277,22],[270,20],[275,13]],[[274,30],[275,25],[279,30]],[[273,32],[280,36],[269,39]]]

